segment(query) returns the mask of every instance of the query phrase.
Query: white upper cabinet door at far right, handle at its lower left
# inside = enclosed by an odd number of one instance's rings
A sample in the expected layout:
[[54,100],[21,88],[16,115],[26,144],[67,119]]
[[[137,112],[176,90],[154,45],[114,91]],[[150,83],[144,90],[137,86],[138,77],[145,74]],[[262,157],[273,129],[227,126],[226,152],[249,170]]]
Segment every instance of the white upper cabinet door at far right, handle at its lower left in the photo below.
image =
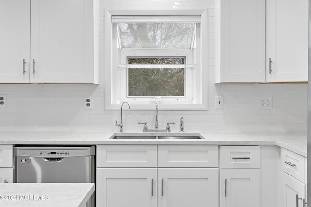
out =
[[308,0],[268,0],[266,81],[294,82],[307,78]]

